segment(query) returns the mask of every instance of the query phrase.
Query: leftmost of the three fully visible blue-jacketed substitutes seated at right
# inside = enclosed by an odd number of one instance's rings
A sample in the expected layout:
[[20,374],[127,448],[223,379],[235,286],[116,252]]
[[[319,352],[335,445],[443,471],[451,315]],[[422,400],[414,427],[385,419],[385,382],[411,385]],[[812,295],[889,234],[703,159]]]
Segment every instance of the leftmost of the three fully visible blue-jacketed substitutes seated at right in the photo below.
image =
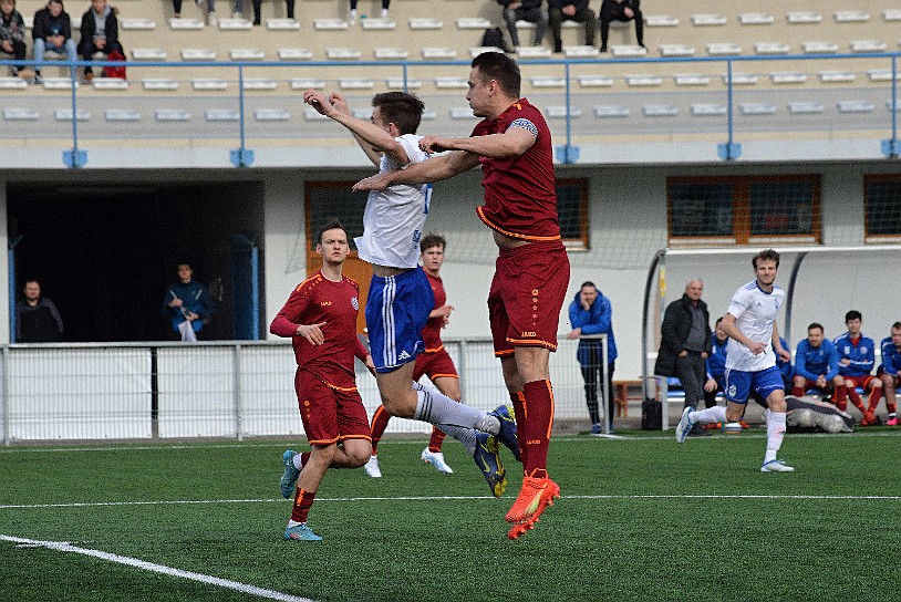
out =
[[[828,396],[835,390],[835,403],[845,412],[848,407],[848,390],[838,373],[836,345],[824,338],[822,324],[807,326],[807,339],[798,343],[795,352],[795,377],[791,394],[802,397],[807,390],[816,390]],[[862,404],[858,409],[866,413]]]

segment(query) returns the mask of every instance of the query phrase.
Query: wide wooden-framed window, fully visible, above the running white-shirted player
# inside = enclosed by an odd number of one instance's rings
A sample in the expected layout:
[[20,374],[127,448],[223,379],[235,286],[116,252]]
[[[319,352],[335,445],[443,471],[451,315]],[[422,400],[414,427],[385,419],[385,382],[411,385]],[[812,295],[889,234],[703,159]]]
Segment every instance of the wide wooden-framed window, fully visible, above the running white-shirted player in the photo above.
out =
[[669,178],[670,243],[820,241],[819,176]]

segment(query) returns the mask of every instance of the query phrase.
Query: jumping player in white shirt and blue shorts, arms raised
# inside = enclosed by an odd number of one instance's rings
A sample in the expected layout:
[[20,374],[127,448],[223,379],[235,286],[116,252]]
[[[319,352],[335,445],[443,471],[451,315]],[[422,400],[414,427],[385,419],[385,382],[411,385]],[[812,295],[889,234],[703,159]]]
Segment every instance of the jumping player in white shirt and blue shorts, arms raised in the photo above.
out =
[[[303,100],[319,113],[346,127],[380,174],[403,172],[428,155],[420,148],[420,126],[425,108],[411,94],[385,92],[372,100],[372,121],[358,120],[341,94],[325,96],[315,90]],[[487,413],[459,404],[435,390],[413,382],[416,356],[423,351],[422,331],[435,303],[432,287],[418,264],[432,187],[392,186],[372,191],[363,212],[363,236],[356,250],[372,263],[366,300],[366,329],[375,363],[382,403],[392,416],[431,423],[458,439],[473,455],[491,494],[504,495],[506,470],[498,443],[519,459],[516,423],[506,406]]]

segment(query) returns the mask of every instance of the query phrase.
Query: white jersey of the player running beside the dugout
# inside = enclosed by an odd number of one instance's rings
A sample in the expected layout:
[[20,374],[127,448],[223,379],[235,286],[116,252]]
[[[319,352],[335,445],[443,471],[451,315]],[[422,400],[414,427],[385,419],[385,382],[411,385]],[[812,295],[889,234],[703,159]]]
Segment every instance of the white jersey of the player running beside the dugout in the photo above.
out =
[[766,351],[754,355],[748,347],[729,339],[726,345],[726,367],[744,372],[758,372],[776,365],[773,351],[773,324],[785,302],[785,291],[773,287],[773,292],[764,292],[757,281],[748,282],[732,297],[727,312],[735,316],[735,325],[752,341],[766,343]]

